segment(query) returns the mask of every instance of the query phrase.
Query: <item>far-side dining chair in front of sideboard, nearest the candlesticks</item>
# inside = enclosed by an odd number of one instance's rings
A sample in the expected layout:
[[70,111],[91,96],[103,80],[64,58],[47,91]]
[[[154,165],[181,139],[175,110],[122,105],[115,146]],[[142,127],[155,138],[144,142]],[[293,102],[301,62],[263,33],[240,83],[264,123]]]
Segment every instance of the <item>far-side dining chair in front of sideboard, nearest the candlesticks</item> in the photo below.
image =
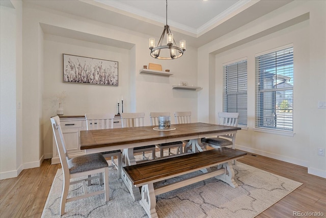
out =
[[[85,114],[87,130],[113,129],[114,113]],[[121,178],[121,150],[110,152],[101,152],[104,157],[111,157],[111,162],[118,170],[118,178]],[[118,163],[115,163],[114,157],[118,157]]]

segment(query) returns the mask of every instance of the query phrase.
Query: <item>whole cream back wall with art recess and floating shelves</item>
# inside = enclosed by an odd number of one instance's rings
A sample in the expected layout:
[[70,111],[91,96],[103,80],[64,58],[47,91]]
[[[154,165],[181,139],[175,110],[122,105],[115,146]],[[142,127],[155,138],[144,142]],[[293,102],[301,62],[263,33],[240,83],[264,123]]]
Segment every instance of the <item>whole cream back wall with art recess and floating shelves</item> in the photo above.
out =
[[[23,141],[28,167],[39,166],[43,158],[51,157],[49,118],[58,107],[54,95],[62,91],[67,93],[65,115],[117,113],[117,99],[123,95],[124,112],[144,111],[148,117],[151,111],[172,114],[191,110],[197,120],[197,92],[172,90],[180,81],[197,86],[197,50],[191,46],[181,59],[157,61],[149,55],[147,35],[26,2],[23,17]],[[81,39],[81,35],[85,37]],[[118,61],[119,86],[63,83],[63,53]],[[150,62],[169,68],[174,75],[140,75],[139,70]]]

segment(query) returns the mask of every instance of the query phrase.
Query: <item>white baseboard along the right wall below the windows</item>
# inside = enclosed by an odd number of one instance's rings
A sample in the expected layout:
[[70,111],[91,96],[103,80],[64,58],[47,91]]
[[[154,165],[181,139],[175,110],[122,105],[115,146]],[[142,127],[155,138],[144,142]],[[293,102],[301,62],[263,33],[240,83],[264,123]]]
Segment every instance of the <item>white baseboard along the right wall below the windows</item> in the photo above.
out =
[[288,156],[283,156],[283,155],[274,154],[274,153],[270,153],[270,152],[265,152],[265,151],[261,151],[261,150],[257,150],[257,149],[253,149],[253,148],[239,146],[238,144],[235,145],[235,148],[239,149],[241,151],[246,151],[246,152],[258,154],[258,155],[273,158],[273,159],[276,159],[276,160],[282,160],[284,162],[293,163],[293,164],[299,165],[299,166],[308,167],[308,164],[309,164],[309,162],[305,161],[305,160],[300,160],[300,159],[291,158],[291,157],[288,157]]

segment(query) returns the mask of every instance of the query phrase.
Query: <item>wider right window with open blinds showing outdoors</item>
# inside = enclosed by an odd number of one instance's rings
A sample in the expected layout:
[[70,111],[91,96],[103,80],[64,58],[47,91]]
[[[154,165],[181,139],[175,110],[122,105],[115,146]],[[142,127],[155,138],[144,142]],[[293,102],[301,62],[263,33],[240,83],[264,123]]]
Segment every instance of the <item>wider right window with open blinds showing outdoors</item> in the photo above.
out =
[[293,131],[293,47],[256,57],[255,127]]

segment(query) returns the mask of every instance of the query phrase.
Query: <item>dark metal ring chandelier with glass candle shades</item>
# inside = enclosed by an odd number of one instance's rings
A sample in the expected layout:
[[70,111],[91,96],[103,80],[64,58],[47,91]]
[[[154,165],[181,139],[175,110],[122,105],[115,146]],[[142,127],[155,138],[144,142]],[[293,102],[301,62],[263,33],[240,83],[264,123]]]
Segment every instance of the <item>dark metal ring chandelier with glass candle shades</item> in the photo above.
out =
[[[164,37],[167,35],[167,44],[162,45]],[[164,26],[163,33],[155,46],[155,38],[149,38],[149,49],[151,50],[151,56],[156,59],[173,60],[180,58],[185,51],[185,40],[180,40],[180,47],[176,46],[176,43],[168,25],[168,0],[167,0],[167,24]],[[162,53],[161,53],[162,52]],[[178,53],[178,54],[177,54]],[[160,56],[161,55],[161,56]]]

